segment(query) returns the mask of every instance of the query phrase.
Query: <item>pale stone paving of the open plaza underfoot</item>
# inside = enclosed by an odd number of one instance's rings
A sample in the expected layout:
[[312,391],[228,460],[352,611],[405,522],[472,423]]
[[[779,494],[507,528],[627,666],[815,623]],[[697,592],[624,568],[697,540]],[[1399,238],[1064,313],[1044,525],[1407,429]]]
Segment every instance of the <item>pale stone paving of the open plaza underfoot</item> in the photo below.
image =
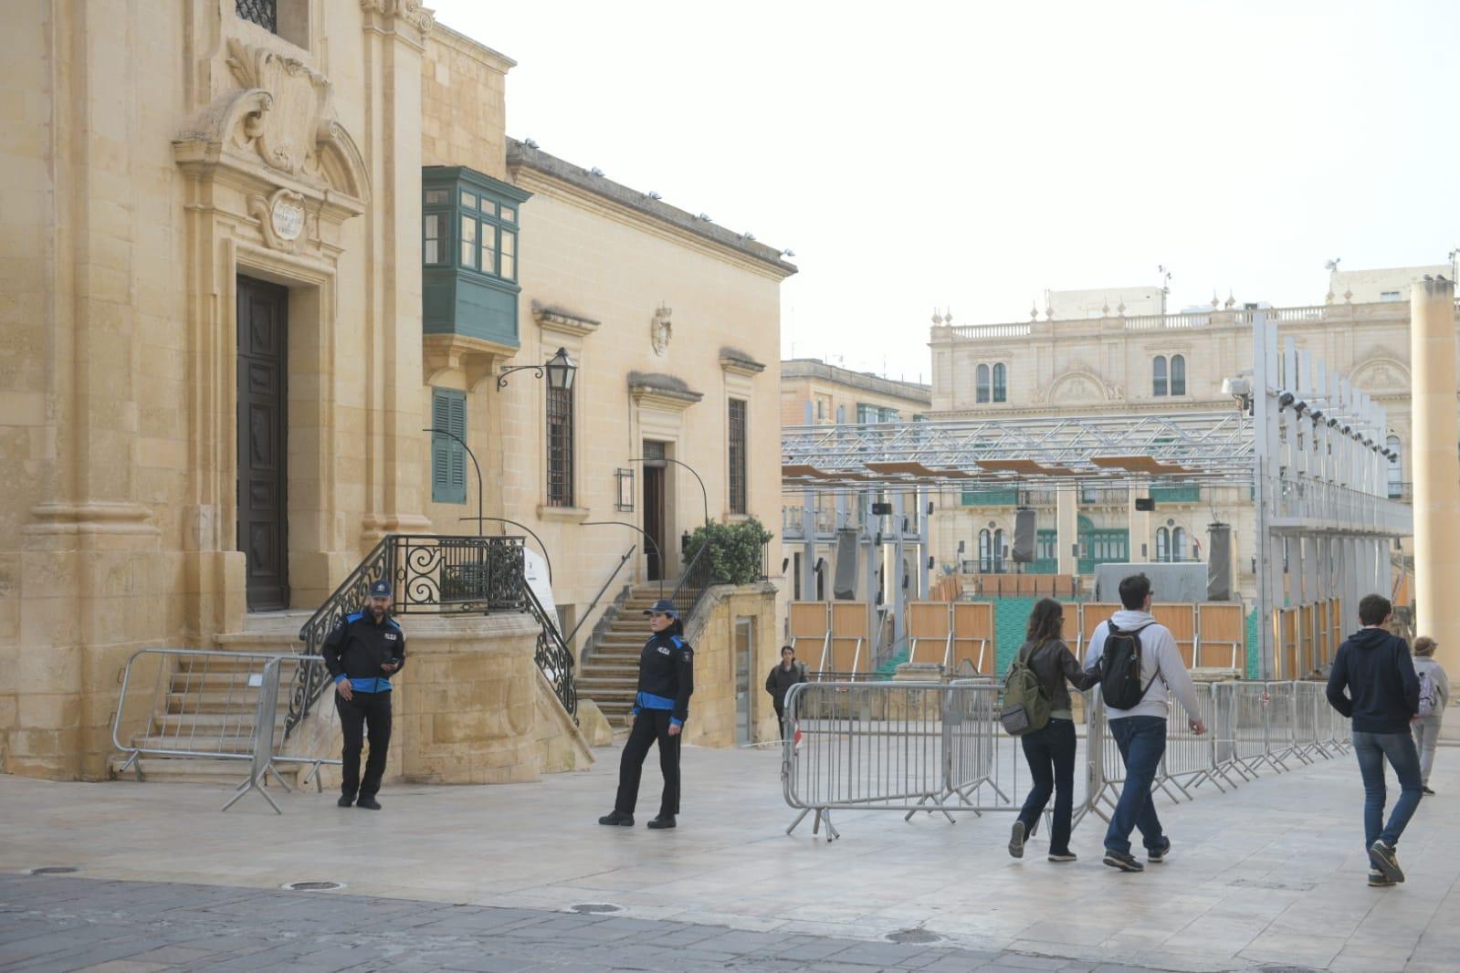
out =
[[[1012,861],[1009,815],[844,813],[838,842],[809,821],[787,837],[766,750],[686,748],[677,830],[603,829],[618,761],[599,756],[540,785],[387,788],[380,814],[311,792],[280,795],[285,817],[256,795],[222,815],[218,786],[0,778],[0,967],[1460,967],[1456,750],[1388,890],[1364,884],[1352,757],[1165,805],[1171,859],[1124,875],[1089,824],[1073,867],[1040,839]],[[657,772],[645,785],[651,811]],[[23,874],[45,867],[79,871]],[[296,881],[345,888],[280,891]],[[619,910],[572,912],[596,904]]]

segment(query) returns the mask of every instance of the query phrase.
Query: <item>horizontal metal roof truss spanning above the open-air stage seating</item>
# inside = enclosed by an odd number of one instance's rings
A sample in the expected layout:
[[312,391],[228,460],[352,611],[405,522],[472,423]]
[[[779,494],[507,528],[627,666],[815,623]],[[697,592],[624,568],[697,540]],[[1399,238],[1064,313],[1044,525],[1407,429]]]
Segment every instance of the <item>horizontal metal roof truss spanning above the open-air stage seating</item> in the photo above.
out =
[[1124,416],[790,426],[787,486],[1253,481],[1254,420],[1234,408]]

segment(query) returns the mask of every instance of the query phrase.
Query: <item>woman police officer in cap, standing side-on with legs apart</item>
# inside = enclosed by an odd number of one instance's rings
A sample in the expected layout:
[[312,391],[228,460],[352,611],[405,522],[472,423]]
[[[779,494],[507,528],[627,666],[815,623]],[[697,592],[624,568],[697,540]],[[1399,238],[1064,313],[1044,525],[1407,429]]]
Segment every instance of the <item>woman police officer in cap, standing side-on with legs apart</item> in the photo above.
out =
[[685,626],[667,600],[648,610],[653,635],[639,655],[638,693],[634,696],[634,728],[619,759],[619,792],[613,813],[599,824],[634,827],[634,805],[644,773],[648,748],[658,743],[658,769],[664,775],[664,794],[651,829],[675,827],[679,814],[679,735],[689,719],[689,696],[695,691],[695,651],[685,642]]

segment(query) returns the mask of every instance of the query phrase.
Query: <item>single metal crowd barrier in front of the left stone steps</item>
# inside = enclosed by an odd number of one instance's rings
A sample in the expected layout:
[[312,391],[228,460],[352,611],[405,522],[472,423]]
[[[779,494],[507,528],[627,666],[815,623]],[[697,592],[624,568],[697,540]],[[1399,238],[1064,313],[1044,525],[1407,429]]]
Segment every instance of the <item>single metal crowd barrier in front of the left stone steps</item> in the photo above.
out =
[[[143,757],[199,757],[248,761],[248,780],[223,805],[258,789],[267,775],[289,791],[276,764],[308,764],[304,783],[323,791],[320,767],[340,763],[340,729],[333,706],[317,708],[288,741],[280,691],[302,686],[305,667],[323,668],[317,655],[223,652],[203,649],[139,649],[121,674],[121,693],[111,725],[111,743],[142,780]],[[327,756],[336,754],[336,756]]]

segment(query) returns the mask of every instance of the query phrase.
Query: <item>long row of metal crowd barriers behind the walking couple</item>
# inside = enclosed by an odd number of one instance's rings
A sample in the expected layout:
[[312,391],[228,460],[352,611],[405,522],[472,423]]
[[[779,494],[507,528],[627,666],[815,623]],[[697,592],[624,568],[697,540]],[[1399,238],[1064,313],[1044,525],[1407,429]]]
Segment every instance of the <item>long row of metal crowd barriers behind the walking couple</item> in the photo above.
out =
[[[1167,751],[1152,792],[1172,802],[1194,799],[1206,783],[1226,792],[1263,770],[1289,761],[1333,757],[1349,745],[1349,728],[1318,683],[1197,683],[1197,713],[1171,700]],[[990,683],[822,681],[793,686],[785,718],[793,725],[783,750],[785,802],[800,811],[787,834],[815,811],[812,833],[826,826],[840,837],[832,811],[1019,811],[1032,780],[1019,740],[999,724],[1002,687]],[[1105,719],[1099,693],[1079,694],[1083,710],[1083,773],[1075,780],[1073,824],[1108,820],[1126,782],[1126,767]],[[1080,705],[1083,703],[1083,706]],[[1206,732],[1188,724],[1199,716]],[[1053,808],[1053,796],[1045,815]]]

